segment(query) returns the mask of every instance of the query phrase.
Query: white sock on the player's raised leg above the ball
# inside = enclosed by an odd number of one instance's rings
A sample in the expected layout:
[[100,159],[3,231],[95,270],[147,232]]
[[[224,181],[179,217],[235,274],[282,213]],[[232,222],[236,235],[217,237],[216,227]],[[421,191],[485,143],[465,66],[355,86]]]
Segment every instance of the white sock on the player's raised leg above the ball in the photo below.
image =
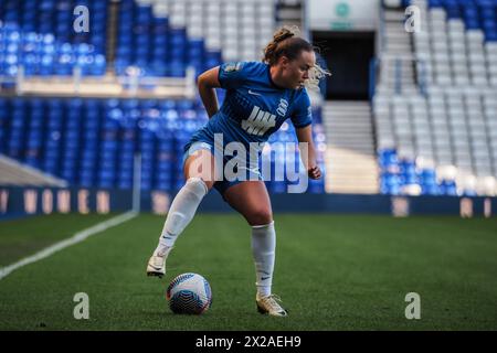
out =
[[187,183],[172,201],[159,238],[159,245],[154,254],[160,256],[167,256],[169,254],[178,235],[191,222],[200,202],[208,192],[209,189],[202,179],[189,178],[187,180]]

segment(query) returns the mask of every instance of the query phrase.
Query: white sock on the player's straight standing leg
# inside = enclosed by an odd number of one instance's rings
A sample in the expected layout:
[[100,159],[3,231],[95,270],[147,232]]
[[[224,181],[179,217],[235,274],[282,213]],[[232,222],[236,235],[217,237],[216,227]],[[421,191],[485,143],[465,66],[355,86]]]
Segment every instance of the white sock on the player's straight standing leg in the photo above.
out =
[[271,295],[273,282],[273,269],[276,249],[276,232],[274,222],[266,225],[252,226],[252,255],[255,263],[255,277],[257,295],[267,297]]

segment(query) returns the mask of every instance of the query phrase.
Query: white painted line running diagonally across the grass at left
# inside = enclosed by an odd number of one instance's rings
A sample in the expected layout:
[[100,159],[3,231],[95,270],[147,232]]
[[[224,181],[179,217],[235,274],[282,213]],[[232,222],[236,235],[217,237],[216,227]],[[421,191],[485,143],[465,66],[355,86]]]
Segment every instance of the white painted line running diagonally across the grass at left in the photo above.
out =
[[136,217],[138,215],[137,212],[135,211],[129,211],[126,213],[123,213],[118,216],[115,216],[110,220],[104,221],[102,223],[98,223],[89,228],[83,229],[81,232],[77,232],[76,234],[74,234],[71,238],[68,239],[64,239],[62,242],[55,243],[54,245],[51,245],[46,248],[44,248],[41,252],[38,252],[36,254],[23,258],[12,265],[9,265],[7,267],[0,268],[0,280],[2,280],[3,278],[6,278],[7,276],[9,276],[10,274],[12,274],[14,270],[33,264],[35,261],[39,261],[41,259],[44,259],[53,254],[55,254],[56,252],[60,252],[71,245],[77,244],[80,242],[83,242],[84,239],[88,238],[92,235],[95,235],[97,233],[104,232],[110,227],[114,227],[116,225],[119,225],[121,223],[125,223],[134,217]]

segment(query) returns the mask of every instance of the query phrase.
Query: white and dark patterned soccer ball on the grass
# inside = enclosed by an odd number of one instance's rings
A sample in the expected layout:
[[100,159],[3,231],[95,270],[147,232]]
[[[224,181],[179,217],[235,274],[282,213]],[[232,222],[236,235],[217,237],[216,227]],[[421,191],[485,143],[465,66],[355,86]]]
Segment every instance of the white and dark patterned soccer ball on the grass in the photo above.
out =
[[211,286],[198,274],[182,274],[171,281],[166,298],[175,313],[201,314],[212,304]]

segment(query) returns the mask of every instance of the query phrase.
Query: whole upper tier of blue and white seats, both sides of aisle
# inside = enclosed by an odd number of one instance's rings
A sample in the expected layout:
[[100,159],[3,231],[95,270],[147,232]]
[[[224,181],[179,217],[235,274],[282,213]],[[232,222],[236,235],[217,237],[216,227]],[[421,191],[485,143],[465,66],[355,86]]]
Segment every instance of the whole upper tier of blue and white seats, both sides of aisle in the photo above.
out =
[[[76,6],[88,9],[91,30],[76,33]],[[0,2],[0,76],[82,75],[106,72],[107,25],[115,25],[113,68],[139,67],[142,76],[186,75],[222,61],[258,60],[275,28],[274,1],[120,0],[107,23],[109,1]],[[240,25],[240,23],[242,25]],[[77,23],[76,23],[77,24]]]

